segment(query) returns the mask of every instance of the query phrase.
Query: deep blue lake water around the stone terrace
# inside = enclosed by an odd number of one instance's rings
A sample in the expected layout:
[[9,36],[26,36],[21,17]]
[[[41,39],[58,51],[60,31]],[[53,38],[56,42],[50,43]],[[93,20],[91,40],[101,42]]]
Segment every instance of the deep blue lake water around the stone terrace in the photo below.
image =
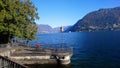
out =
[[60,44],[73,47],[71,64],[31,65],[32,68],[120,68],[120,32],[75,32],[39,34],[34,43]]

